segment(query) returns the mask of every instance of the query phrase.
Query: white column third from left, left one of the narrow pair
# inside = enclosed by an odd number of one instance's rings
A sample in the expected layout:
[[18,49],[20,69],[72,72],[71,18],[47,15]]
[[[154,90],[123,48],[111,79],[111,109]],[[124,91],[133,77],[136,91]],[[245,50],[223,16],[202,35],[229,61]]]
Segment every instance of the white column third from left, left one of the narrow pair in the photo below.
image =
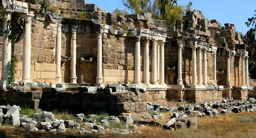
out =
[[57,24],[56,48],[55,48],[55,64],[56,64],[56,83],[61,82],[61,23]]

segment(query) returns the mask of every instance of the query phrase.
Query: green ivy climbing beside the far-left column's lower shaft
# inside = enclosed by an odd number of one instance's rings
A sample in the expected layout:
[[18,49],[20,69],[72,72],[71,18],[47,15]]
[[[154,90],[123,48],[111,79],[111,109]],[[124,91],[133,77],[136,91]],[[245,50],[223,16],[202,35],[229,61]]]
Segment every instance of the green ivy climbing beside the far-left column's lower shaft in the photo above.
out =
[[15,58],[11,58],[11,61],[10,61],[10,68],[9,68],[9,76],[7,77],[7,83],[14,87],[15,84],[14,84],[14,75],[16,74],[16,63],[17,63],[17,60]]

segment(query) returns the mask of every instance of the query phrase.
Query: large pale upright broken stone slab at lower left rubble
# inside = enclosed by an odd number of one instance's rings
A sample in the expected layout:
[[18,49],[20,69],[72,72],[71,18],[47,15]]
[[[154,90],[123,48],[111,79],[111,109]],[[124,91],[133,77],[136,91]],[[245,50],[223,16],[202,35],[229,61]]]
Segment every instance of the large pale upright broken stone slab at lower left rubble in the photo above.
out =
[[3,116],[3,122],[9,122],[10,125],[20,125],[20,112],[16,105],[13,105]]

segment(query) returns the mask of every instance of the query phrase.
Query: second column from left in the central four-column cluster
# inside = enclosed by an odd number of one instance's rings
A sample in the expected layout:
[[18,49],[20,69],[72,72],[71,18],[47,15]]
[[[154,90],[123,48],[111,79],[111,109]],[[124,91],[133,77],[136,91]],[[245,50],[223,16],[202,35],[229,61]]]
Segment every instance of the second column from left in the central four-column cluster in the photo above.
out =
[[145,39],[144,44],[144,83],[149,84],[149,40]]

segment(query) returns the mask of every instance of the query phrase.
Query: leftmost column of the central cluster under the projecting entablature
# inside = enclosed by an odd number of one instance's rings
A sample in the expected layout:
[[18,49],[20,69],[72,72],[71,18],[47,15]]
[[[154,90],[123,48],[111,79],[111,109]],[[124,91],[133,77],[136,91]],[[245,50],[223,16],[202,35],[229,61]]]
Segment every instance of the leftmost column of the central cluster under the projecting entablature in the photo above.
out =
[[140,36],[135,38],[135,83],[140,84]]

